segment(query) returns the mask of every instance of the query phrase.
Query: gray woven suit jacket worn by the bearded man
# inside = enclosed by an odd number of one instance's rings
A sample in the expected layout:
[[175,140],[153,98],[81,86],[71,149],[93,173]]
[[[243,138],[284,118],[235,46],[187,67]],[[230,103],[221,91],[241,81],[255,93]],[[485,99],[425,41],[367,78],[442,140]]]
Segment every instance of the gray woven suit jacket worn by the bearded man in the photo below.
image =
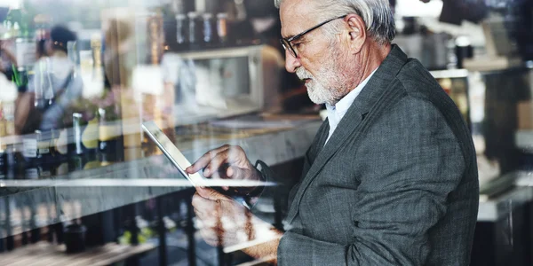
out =
[[454,102],[393,50],[290,192],[280,265],[468,265],[479,184]]

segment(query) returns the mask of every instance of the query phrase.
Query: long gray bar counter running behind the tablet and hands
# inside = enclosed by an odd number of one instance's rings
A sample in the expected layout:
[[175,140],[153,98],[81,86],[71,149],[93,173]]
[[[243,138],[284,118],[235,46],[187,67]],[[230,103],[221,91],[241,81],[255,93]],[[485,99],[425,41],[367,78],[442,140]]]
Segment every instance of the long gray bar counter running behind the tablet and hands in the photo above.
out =
[[[303,157],[321,124],[318,117],[269,121],[210,136],[177,129],[176,144],[189,161],[229,144],[242,146],[252,162],[277,165]],[[187,190],[191,184],[161,154],[45,179],[0,179],[0,239]]]

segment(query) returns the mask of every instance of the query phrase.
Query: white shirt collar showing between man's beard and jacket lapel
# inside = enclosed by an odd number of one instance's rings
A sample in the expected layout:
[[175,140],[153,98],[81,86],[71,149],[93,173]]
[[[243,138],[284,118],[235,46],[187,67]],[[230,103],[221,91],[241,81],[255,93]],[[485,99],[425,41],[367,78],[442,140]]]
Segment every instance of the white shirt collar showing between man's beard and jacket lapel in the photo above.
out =
[[328,136],[328,139],[326,140],[326,144],[328,141],[330,141],[330,137],[333,135],[333,132],[335,132],[335,129],[337,129],[338,123],[342,120],[342,118],[345,116],[346,112],[348,112],[348,109],[352,104],[354,104],[355,98],[359,96],[362,89],[366,86],[366,84],[370,81],[370,78],[376,73],[378,69],[374,70],[364,81],[357,86],[354,90],[350,91],[344,98],[342,98],[340,101],[338,101],[337,105],[330,106],[326,104],[326,109],[328,109],[328,121],[330,122],[330,135]]

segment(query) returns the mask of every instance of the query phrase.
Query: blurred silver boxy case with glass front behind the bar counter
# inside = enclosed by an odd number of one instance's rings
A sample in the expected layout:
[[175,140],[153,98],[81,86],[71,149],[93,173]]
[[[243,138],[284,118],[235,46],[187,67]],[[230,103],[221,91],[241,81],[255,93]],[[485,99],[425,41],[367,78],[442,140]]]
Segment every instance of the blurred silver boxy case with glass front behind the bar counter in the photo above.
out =
[[266,88],[265,49],[166,52],[161,68],[175,91],[177,125],[262,110],[265,90],[277,90]]

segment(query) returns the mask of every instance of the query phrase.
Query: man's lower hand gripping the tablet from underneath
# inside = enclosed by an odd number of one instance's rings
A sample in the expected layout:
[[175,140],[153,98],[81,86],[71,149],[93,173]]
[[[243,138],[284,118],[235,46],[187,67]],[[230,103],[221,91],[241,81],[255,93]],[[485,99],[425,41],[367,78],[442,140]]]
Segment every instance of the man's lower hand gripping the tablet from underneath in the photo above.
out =
[[211,246],[235,246],[278,237],[272,226],[251,214],[240,203],[211,189],[196,188],[193,197],[199,231]]

